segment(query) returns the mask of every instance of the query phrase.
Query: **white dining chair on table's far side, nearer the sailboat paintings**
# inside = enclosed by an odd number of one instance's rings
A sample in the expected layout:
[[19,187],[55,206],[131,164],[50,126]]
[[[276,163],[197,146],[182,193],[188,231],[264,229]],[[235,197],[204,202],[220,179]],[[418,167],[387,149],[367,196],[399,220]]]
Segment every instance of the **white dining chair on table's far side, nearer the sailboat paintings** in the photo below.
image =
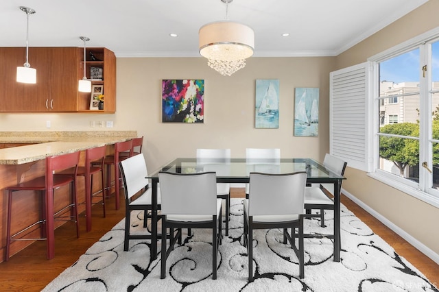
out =
[[[246,148],[247,171],[261,173],[279,173],[281,167],[281,149],[279,148]],[[249,186],[246,184],[246,198]]]

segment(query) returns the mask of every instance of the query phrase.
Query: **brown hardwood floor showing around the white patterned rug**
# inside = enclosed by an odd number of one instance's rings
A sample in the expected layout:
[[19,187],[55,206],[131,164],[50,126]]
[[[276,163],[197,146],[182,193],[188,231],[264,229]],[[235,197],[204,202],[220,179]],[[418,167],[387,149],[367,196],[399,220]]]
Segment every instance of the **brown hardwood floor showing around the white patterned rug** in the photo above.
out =
[[[233,188],[231,197],[244,197],[244,188]],[[80,238],[75,236],[73,223],[64,224],[55,232],[55,258],[46,259],[46,243],[38,241],[12,256],[8,262],[0,263],[0,291],[40,291],[64,269],[78,260],[101,236],[125,217],[125,200],[121,197],[121,207],[115,210],[114,197],[107,200],[107,215],[102,217],[102,206],[93,206],[93,228],[85,231],[85,219],[80,217]],[[439,287],[439,265],[416,250],[392,230],[361,209],[350,199],[342,196],[342,203],[359,219],[364,221],[376,234],[387,241],[394,250],[410,261],[424,275]]]

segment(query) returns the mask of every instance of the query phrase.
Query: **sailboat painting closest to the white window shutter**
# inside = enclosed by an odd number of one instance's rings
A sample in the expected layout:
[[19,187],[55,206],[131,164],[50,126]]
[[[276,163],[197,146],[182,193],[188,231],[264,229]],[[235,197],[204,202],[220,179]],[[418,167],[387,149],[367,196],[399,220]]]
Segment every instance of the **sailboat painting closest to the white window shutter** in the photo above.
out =
[[318,136],[319,88],[296,88],[294,101],[294,136]]

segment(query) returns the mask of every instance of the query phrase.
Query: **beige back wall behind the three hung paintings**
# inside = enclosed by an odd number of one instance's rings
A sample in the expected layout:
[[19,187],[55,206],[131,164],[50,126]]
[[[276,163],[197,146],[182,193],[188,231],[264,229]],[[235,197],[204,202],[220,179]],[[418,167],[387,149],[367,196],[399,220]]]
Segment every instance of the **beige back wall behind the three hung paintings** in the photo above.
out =
[[[231,77],[213,71],[202,58],[123,58],[117,62],[118,112],[147,138],[148,167],[156,169],[196,148],[230,148],[244,157],[246,147],[278,147],[281,156],[322,158],[329,147],[329,72],[334,58],[251,58]],[[204,79],[204,123],[161,122],[162,79]],[[254,128],[257,79],[280,82],[278,129]],[[320,88],[319,136],[293,136],[294,88]]]

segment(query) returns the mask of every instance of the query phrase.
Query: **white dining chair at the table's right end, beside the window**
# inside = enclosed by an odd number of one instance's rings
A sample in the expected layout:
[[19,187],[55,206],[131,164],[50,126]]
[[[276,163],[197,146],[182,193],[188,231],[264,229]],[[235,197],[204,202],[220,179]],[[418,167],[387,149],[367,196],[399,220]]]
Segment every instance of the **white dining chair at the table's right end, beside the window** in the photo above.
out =
[[[329,171],[337,175],[344,175],[347,162],[344,160],[326,154],[323,165]],[[305,209],[309,217],[320,217],[320,226],[324,225],[324,210],[334,210],[334,184],[311,184],[305,189]],[[312,209],[320,210],[320,215],[311,215]]]

